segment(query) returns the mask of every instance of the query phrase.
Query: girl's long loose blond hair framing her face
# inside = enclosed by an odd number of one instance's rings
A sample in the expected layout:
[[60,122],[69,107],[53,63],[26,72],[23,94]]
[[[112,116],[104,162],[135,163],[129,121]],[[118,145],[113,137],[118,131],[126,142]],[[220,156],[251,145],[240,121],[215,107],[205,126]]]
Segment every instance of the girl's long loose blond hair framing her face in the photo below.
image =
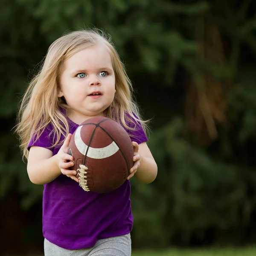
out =
[[110,36],[100,30],[68,32],[50,45],[41,70],[30,82],[20,102],[16,132],[20,137],[23,157],[28,157],[27,146],[32,136],[39,137],[49,124],[54,128],[56,139],[52,147],[63,143],[60,141],[61,134],[66,137],[69,133],[64,114],[68,113],[69,106],[57,96],[62,66],[64,61],[76,52],[95,44],[107,46],[116,79],[115,97],[111,106],[105,110],[105,116],[116,120],[129,130],[132,128],[127,125],[127,121],[133,122],[134,119],[142,124],[144,131],[148,130],[147,121],[140,118],[138,106],[132,97],[131,81]]

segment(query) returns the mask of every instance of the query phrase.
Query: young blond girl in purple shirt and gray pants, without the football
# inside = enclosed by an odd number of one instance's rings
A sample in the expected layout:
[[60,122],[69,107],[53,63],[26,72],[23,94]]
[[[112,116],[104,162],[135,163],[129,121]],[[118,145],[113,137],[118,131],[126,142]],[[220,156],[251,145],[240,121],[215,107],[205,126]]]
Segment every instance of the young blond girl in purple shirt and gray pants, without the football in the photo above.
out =
[[[151,183],[157,164],[146,144],[146,123],[110,39],[95,31],[70,32],[49,47],[44,64],[21,102],[17,133],[32,183],[43,184],[46,256],[130,256],[131,184]],[[71,134],[86,119],[106,116],[126,129],[134,165],[113,192],[84,192],[77,183]]]

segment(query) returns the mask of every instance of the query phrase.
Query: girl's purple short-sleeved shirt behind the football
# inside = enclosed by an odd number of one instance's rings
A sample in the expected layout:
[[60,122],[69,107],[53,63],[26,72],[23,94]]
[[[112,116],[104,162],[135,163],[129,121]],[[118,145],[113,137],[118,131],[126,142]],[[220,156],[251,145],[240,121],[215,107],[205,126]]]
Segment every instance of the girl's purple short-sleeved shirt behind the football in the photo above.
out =
[[[67,119],[70,133],[79,126]],[[49,148],[53,155],[60,146],[50,148],[53,139],[49,136],[49,125],[31,146]],[[135,131],[128,131],[132,141],[143,143],[147,137],[141,125]],[[63,140],[64,137],[61,137]],[[48,241],[69,250],[93,247],[97,240],[122,236],[131,232],[131,183],[126,180],[118,189],[101,194],[85,192],[79,184],[61,174],[52,182],[44,184],[43,192],[43,235]]]

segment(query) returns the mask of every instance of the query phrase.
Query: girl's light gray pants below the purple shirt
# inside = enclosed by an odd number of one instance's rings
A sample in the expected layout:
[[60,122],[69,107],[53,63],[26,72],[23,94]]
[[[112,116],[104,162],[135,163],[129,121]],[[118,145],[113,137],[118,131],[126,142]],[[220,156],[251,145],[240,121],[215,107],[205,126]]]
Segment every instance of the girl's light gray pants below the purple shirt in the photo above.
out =
[[101,239],[93,247],[67,250],[44,239],[45,256],[131,256],[131,236],[115,236]]

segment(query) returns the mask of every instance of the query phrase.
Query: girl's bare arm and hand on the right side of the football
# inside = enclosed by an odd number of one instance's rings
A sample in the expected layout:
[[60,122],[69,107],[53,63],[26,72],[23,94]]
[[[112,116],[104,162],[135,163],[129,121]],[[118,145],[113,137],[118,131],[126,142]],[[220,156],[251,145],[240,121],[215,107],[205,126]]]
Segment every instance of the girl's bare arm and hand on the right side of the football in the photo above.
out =
[[148,148],[147,143],[134,145],[134,166],[131,168],[130,179],[133,175],[142,183],[151,183],[157,177],[157,163]]

